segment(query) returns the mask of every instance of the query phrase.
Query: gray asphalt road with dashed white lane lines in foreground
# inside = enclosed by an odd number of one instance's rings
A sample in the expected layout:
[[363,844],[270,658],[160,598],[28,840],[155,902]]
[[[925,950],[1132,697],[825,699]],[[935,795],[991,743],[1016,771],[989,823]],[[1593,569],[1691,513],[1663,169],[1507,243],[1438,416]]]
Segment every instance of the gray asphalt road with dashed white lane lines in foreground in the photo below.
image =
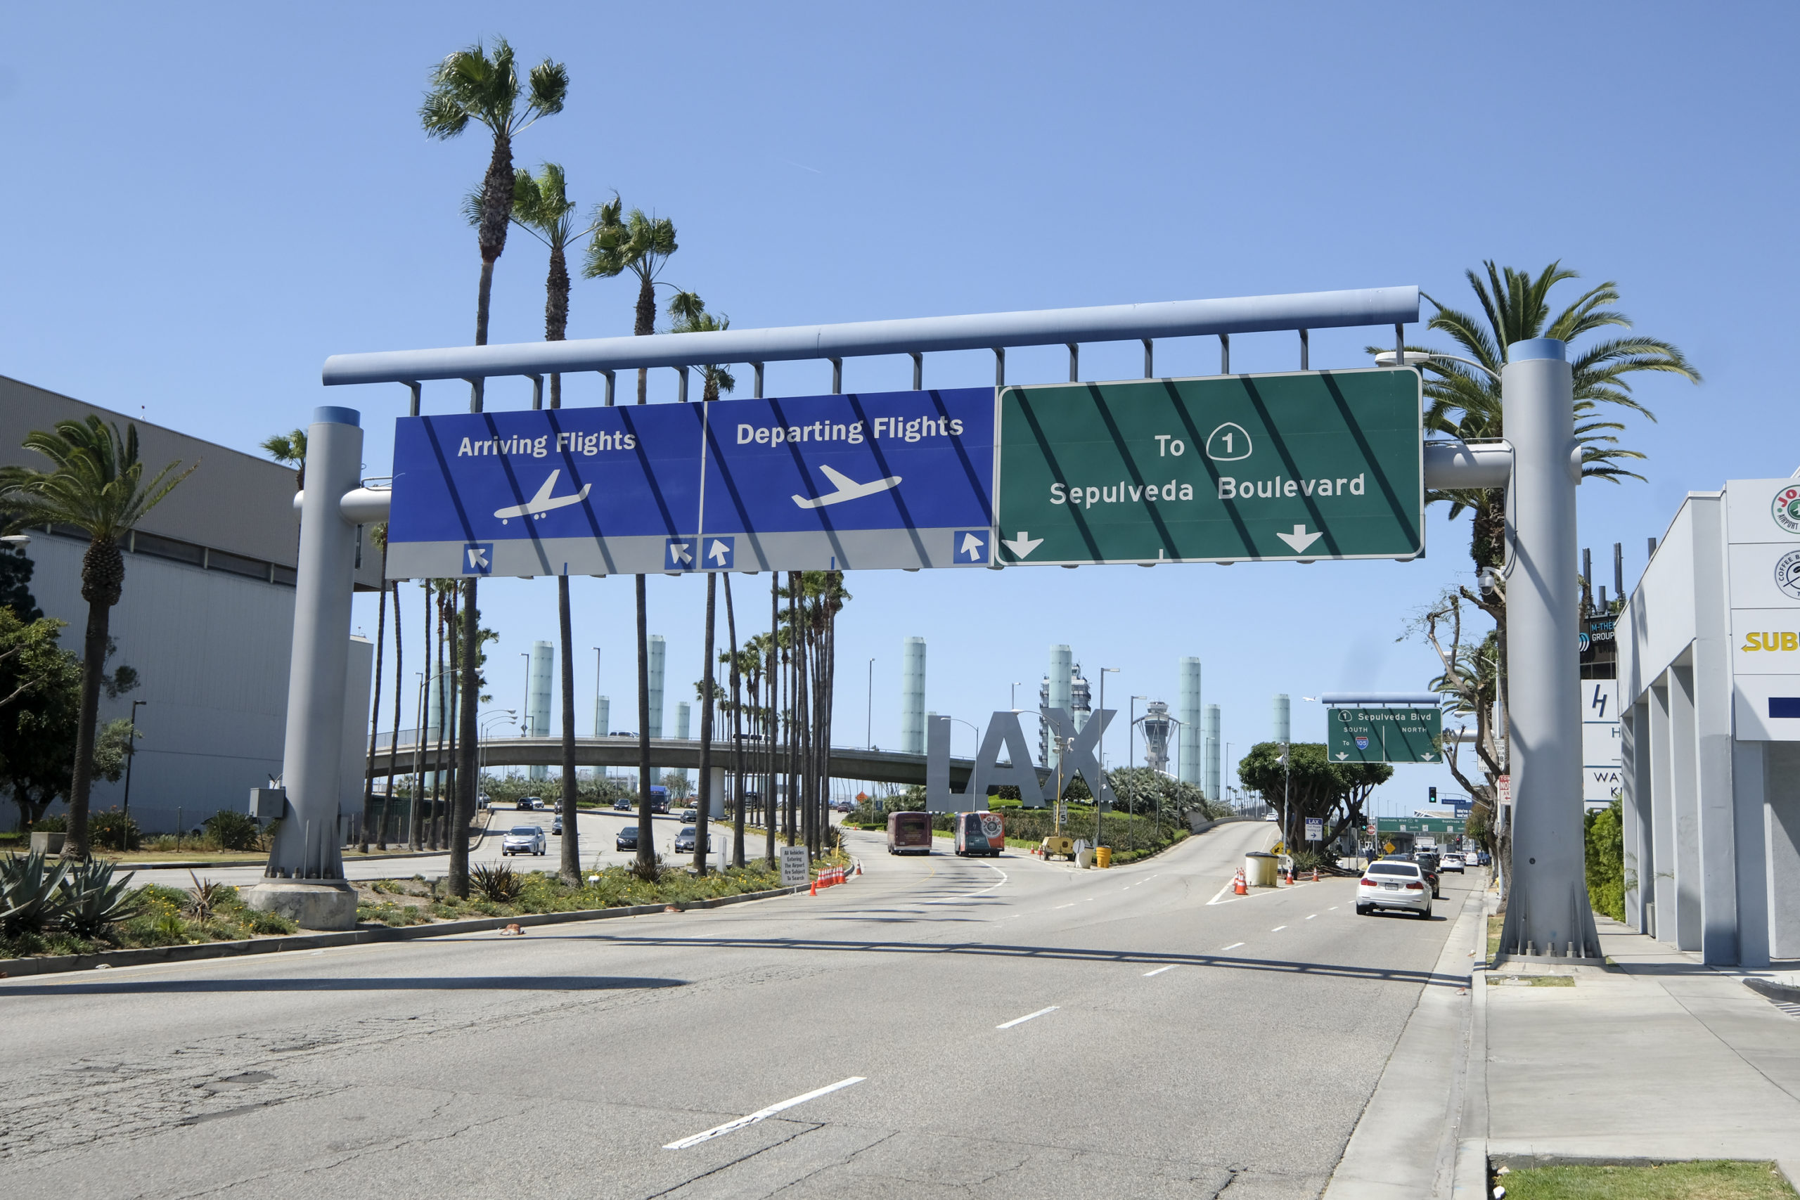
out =
[[1314,1196],[1480,880],[1427,923],[1231,898],[1262,824],[1103,873],[853,837],[817,898],[0,981],[0,1189]]

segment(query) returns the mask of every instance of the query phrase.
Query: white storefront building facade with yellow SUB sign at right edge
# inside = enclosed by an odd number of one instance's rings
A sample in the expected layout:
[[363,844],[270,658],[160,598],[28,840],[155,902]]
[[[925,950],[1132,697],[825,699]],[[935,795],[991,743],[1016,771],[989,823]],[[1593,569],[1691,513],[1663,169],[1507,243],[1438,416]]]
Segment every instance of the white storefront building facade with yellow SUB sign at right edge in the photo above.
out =
[[1690,493],[1618,642],[1625,921],[1800,959],[1800,479]]

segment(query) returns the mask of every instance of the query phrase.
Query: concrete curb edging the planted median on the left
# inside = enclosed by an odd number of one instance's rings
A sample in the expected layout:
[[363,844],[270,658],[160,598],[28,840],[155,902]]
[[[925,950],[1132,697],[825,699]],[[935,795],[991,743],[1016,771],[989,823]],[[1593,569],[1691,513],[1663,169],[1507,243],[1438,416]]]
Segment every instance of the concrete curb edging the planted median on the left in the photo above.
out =
[[[722,909],[742,905],[751,900],[774,900],[805,892],[808,885],[776,887],[765,892],[745,892],[742,896],[715,896],[711,900],[689,900],[673,905],[686,912],[689,909]],[[571,912],[529,912],[517,918],[472,918],[468,921],[437,921],[432,925],[407,925],[401,928],[387,925],[364,925],[342,934],[292,934],[283,937],[250,937],[243,941],[209,941],[189,946],[140,946],[133,950],[101,950],[97,954],[43,955],[36,959],[0,959],[0,975],[58,975],[63,972],[90,972],[101,966],[144,966],[149,963],[191,963],[196,959],[232,959],[250,954],[286,954],[292,950],[324,950],[328,946],[360,946],[376,941],[418,941],[421,937],[452,937],[455,934],[486,934],[508,925],[531,928],[536,925],[567,925],[571,921],[610,921],[614,918],[637,918],[653,912],[666,912],[670,905],[628,905],[619,909],[576,909]]]

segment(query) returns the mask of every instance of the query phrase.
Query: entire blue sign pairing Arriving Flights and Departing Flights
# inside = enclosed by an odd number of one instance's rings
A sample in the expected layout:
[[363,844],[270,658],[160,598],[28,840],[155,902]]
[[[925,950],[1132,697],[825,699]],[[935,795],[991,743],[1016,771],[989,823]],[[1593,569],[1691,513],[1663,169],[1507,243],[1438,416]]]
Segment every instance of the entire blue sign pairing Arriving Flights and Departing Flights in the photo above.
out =
[[992,497],[990,387],[403,417],[387,574],[986,567]]

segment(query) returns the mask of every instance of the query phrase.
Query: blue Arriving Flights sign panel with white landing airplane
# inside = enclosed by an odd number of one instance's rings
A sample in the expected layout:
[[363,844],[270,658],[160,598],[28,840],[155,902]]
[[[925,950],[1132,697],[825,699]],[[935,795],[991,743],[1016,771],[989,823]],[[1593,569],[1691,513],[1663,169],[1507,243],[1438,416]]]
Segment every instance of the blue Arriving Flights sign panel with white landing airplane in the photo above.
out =
[[700,518],[702,405],[401,417],[387,574],[668,570]]

